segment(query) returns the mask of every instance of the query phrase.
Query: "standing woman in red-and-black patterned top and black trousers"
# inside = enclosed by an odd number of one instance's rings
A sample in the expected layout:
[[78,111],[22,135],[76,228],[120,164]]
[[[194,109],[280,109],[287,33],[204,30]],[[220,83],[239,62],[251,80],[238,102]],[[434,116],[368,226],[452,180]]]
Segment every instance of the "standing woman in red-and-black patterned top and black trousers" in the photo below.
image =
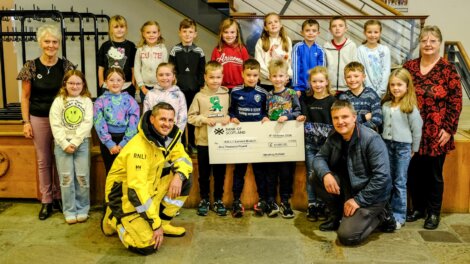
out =
[[408,169],[408,193],[413,210],[406,221],[426,217],[424,228],[439,226],[444,192],[442,171],[447,153],[455,148],[462,110],[462,87],[455,66],[441,58],[442,34],[437,26],[425,26],[419,35],[420,54],[403,67],[413,77],[418,109],[423,119],[419,151]]

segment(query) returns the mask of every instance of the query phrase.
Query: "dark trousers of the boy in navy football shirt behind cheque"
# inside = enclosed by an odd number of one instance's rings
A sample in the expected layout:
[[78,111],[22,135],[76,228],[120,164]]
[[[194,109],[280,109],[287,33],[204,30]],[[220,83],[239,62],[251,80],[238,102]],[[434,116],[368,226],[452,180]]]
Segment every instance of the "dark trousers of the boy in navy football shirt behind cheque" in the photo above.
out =
[[[233,199],[239,200],[245,185],[245,173],[247,163],[235,164],[233,170]],[[266,163],[252,163],[253,174],[255,175],[256,188],[260,199],[267,199],[268,193],[266,189]]]

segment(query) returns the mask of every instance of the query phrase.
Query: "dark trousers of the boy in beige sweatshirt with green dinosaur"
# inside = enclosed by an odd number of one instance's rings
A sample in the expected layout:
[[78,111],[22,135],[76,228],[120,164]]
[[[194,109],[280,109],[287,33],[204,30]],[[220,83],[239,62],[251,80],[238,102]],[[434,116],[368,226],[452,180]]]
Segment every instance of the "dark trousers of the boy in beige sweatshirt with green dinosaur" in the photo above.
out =
[[209,199],[211,168],[214,177],[214,200],[222,199],[224,195],[225,164],[209,164],[209,148],[207,146],[197,146],[197,162],[201,199]]

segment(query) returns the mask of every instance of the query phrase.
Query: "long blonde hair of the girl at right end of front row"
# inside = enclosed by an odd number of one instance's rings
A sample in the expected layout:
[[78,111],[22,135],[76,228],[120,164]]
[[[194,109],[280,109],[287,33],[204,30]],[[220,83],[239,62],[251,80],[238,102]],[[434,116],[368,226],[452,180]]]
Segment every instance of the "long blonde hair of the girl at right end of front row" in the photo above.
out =
[[418,106],[418,101],[416,99],[415,87],[413,85],[413,78],[411,77],[410,72],[405,68],[398,68],[394,70],[390,77],[388,78],[387,92],[382,99],[382,104],[385,104],[388,101],[394,101],[395,97],[390,92],[390,82],[392,78],[397,78],[402,80],[407,87],[405,95],[400,100],[400,110],[403,113],[411,113],[413,109]]

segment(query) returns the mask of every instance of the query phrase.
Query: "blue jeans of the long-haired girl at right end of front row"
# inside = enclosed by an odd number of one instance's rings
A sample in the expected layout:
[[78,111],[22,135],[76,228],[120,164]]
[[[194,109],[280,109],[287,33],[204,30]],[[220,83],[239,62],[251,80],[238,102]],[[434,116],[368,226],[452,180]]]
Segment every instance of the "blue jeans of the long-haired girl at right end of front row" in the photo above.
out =
[[384,141],[390,157],[390,174],[393,183],[390,205],[395,220],[403,225],[406,219],[406,181],[411,160],[411,143],[386,139]]

